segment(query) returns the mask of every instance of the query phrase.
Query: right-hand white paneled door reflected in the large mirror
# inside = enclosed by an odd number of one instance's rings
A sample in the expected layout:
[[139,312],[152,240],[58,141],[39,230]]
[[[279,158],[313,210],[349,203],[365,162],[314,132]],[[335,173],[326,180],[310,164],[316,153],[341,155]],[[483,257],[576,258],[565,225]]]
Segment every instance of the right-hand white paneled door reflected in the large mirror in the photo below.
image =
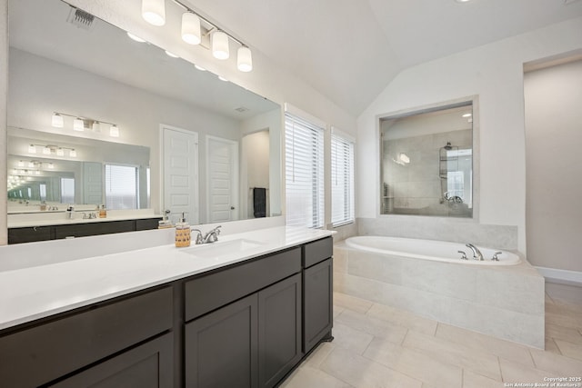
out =
[[206,136],[209,223],[238,220],[238,142]]

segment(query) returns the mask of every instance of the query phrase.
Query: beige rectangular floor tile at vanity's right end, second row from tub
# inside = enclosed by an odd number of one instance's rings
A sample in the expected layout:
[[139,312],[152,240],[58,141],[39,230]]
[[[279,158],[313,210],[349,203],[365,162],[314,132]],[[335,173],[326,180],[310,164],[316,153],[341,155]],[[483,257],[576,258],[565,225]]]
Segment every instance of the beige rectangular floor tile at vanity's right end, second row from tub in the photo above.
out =
[[343,313],[340,313],[336,317],[335,322],[345,324],[353,329],[393,343],[402,343],[406,332],[408,331],[404,326],[389,323],[351,310],[345,310]]

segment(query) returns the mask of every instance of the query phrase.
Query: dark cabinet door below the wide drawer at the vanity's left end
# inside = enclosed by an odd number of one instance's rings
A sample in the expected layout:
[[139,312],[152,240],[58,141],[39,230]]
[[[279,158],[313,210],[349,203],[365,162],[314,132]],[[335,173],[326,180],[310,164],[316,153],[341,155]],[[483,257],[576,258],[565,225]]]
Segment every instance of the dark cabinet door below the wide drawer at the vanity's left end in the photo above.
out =
[[174,384],[174,337],[155,340],[49,385],[54,388],[170,388]]

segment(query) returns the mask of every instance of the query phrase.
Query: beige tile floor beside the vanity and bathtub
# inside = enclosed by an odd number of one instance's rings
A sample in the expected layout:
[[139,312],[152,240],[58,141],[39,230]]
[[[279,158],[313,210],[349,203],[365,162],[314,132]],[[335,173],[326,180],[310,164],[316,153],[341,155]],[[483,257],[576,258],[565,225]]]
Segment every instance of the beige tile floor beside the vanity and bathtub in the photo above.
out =
[[[582,287],[546,284],[546,351],[344,293],[334,293],[334,316],[335,340],[282,388],[499,388],[582,377]],[[571,385],[553,386],[582,387],[562,383]]]

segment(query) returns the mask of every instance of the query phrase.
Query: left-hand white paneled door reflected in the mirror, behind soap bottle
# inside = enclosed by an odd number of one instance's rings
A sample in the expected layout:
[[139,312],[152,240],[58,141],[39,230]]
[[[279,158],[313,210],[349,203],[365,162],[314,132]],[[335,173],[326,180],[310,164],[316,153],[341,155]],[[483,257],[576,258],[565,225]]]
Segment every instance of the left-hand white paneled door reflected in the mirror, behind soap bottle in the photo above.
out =
[[182,213],[190,224],[199,223],[198,210],[198,134],[162,125],[162,209],[170,210],[176,224]]

